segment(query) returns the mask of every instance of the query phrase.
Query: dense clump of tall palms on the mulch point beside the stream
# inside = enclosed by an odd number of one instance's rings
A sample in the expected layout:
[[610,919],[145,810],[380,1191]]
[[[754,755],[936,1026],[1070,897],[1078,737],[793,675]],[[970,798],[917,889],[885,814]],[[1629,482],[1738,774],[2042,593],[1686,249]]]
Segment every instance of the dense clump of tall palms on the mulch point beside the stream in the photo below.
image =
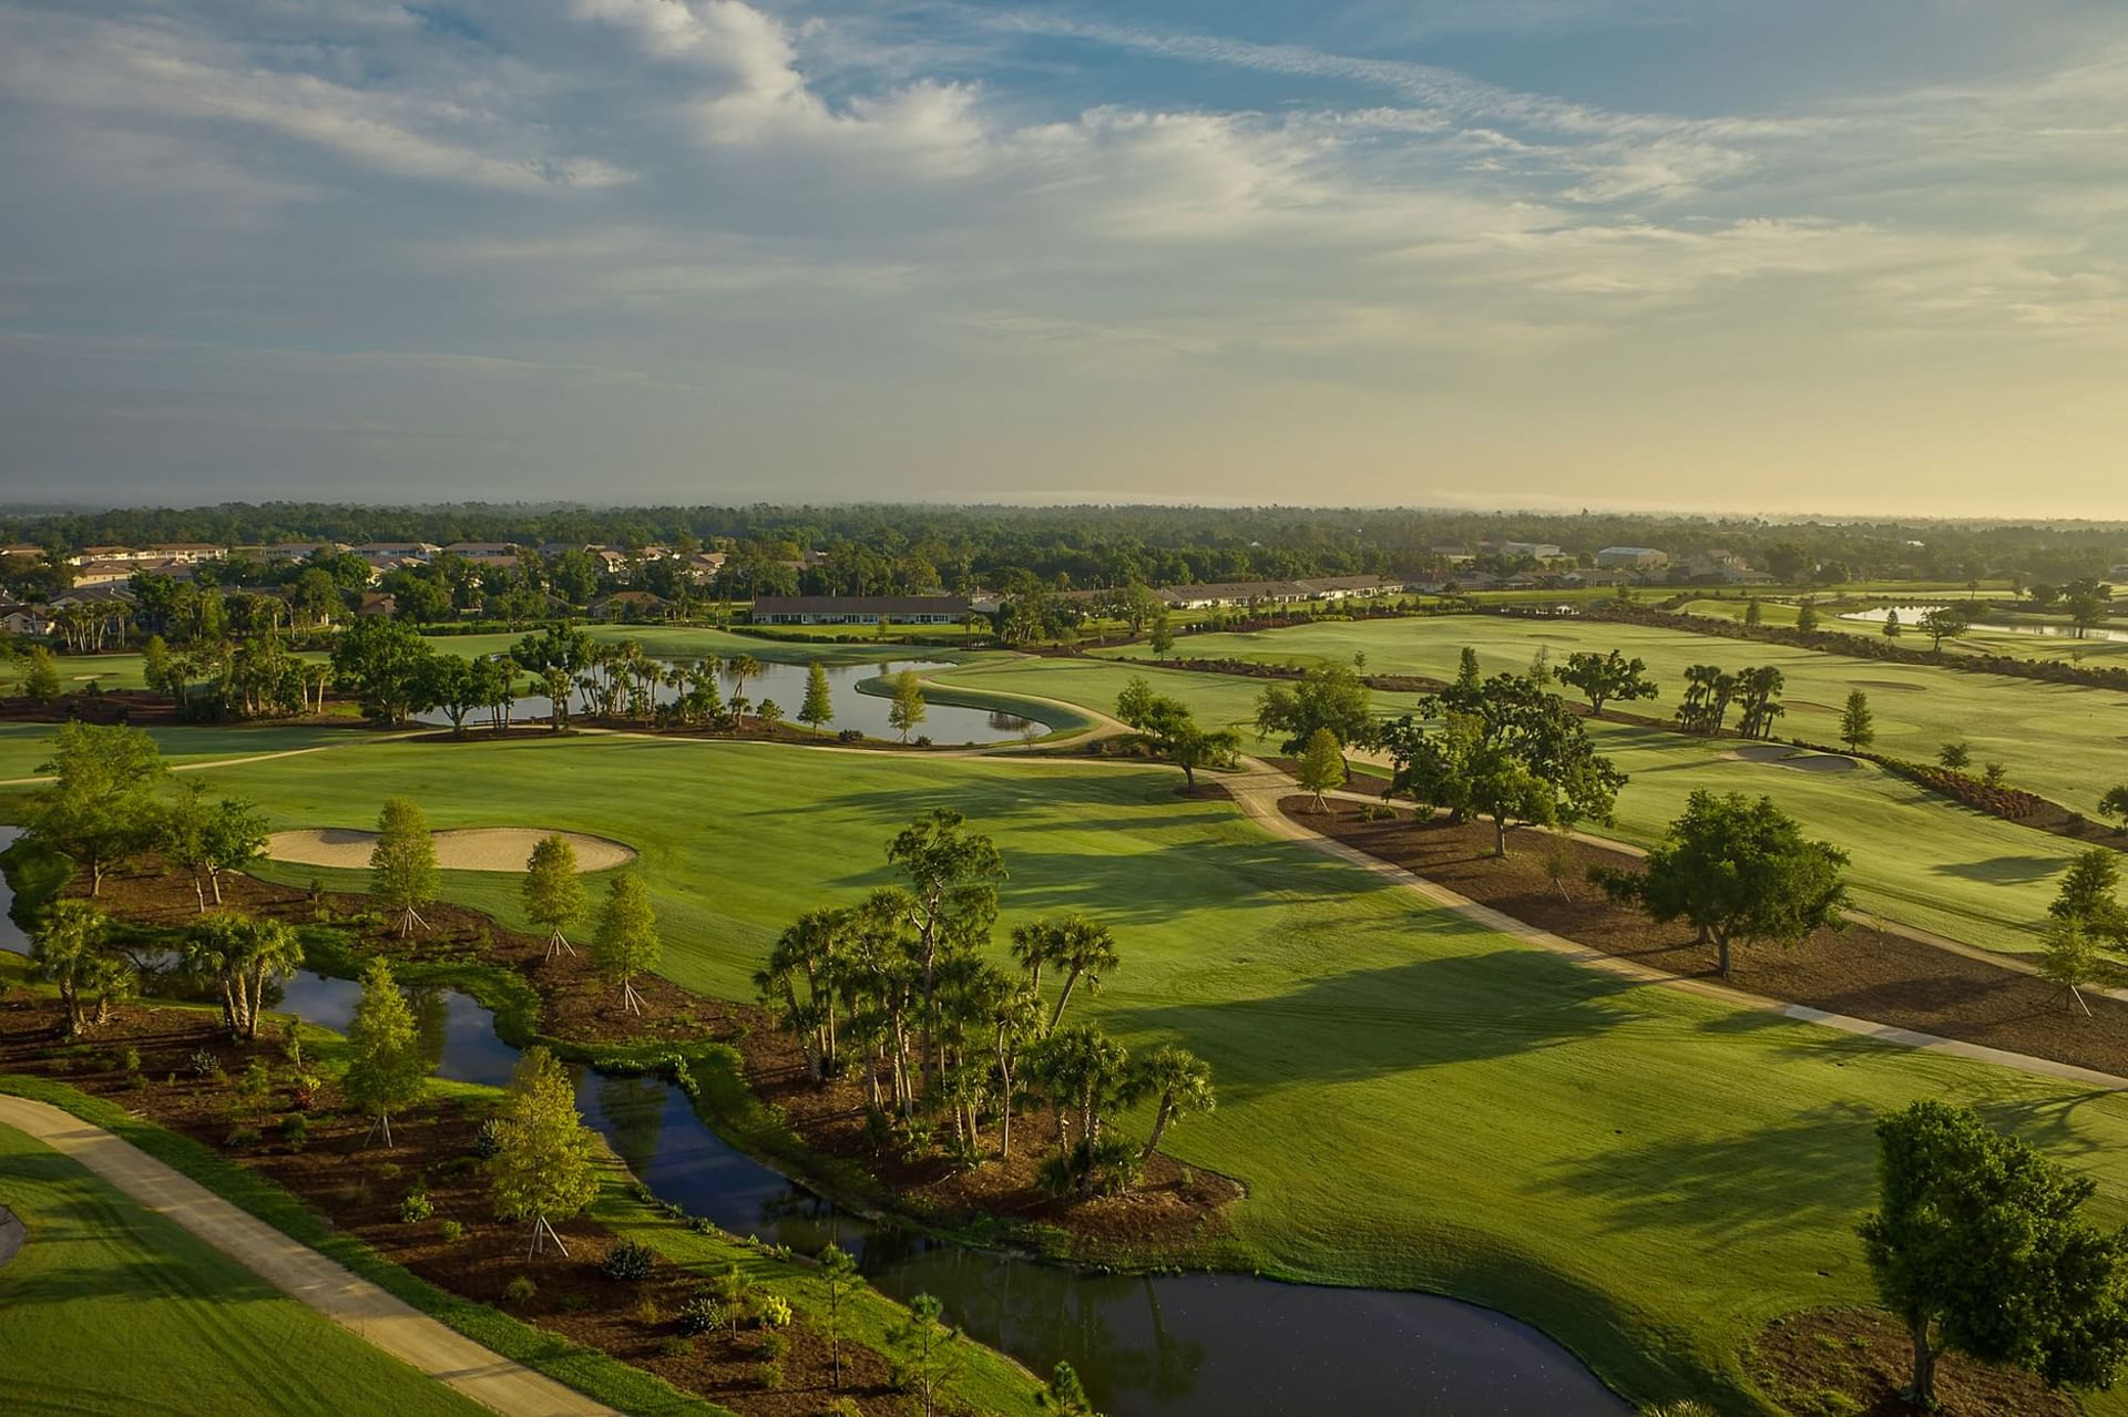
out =
[[[985,957],[1004,862],[960,813],[934,811],[887,845],[904,885],[800,915],[755,972],[762,1000],[826,1083],[860,1072],[877,1132],[938,1138],[962,1164],[1013,1155],[1013,1113],[1053,1113],[1045,1187],[1060,1196],[1128,1189],[1173,1121],[1213,1108],[1211,1070],[1179,1047],[1136,1062],[1098,1028],[1064,1026],[1081,991],[1121,966],[1107,926],[1081,915],[1013,928],[1017,968]],[[1060,981],[1043,998],[1043,977]],[[1143,1145],[1107,1132],[1138,1100],[1156,1104]],[[992,1147],[992,1134],[996,1143]]]

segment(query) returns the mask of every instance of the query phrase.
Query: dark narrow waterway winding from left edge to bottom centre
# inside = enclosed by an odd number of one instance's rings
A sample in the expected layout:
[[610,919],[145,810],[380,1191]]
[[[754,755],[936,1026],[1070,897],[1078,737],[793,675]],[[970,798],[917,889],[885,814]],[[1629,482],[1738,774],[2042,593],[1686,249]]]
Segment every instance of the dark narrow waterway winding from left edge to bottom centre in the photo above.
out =
[[[0,849],[15,832],[0,828]],[[0,881],[0,947],[26,949]],[[362,987],[302,972],[279,1008],[345,1030]],[[411,994],[436,1074],[504,1085],[517,1049],[455,989]],[[732,1234],[798,1253],[834,1240],[900,1300],[947,1317],[1034,1372],[1068,1360],[1115,1417],[1411,1413],[1611,1417],[1630,1408],[1528,1323],[1432,1294],[1283,1285],[1238,1274],[1092,1274],[847,1215],[717,1136],[660,1077],[577,1070],[577,1106],[658,1194]]]

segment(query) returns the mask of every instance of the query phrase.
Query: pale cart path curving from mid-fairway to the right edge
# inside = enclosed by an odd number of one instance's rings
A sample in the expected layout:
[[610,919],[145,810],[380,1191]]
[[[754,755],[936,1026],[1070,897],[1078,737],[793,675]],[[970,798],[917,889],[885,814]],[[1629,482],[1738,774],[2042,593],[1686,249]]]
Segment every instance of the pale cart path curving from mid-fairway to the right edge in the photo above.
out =
[[[1575,964],[1583,964],[1594,970],[1605,970],[1607,974],[1617,974],[1622,979],[1632,979],[1634,983],[1664,985],[1670,989],[1683,989],[1688,994],[1698,994],[1702,998],[1722,1000],[1724,1004],[1736,1008],[1753,1008],[1758,1013],[1779,1013],[1802,1023],[1824,1023],[1826,1028],[1836,1028],[1845,1034],[1856,1034],[1862,1038],[1877,1038],[1879,1043],[1896,1043],[1909,1049],[1924,1049],[1930,1053],[1947,1053],[1951,1057],[1966,1057],[1973,1062],[1996,1064],[2000,1068],[2015,1068],[2019,1072],[2030,1072],[2034,1077],[2060,1079],[2066,1083],[2079,1083],[2085,1087],[2098,1087],[2105,1091],[2128,1091],[2128,1077],[2115,1077],[2111,1072],[2098,1072],[2094,1068],[2077,1068],[2075,1064],[2058,1064],[2047,1057],[2032,1057],[2028,1053],[2011,1053],[2007,1049],[1990,1049],[1979,1043],[1962,1043],[1958,1038],[1939,1038],[1936,1034],[1924,1034],[1911,1028],[1892,1028],[1890,1023],[1875,1023],[1871,1019],[1856,1019],[1845,1013],[1826,1013],[1824,1008],[1809,1008],[1805,1004],[1781,1004],[1775,1000],[1760,998],[1758,994],[1745,994],[1741,989],[1730,989],[1726,985],[1709,983],[1705,979],[1685,979],[1681,974],[1668,974],[1664,970],[1651,970],[1645,964],[1632,964],[1630,960],[1619,960],[1617,955],[1607,955],[1600,949],[1590,949],[1587,945],[1577,945],[1566,936],[1551,934],[1549,930],[1539,930],[1528,926],[1513,915],[1502,915],[1492,906],[1479,904],[1468,896],[1460,896],[1445,885],[1436,885],[1424,877],[1415,877],[1402,866],[1392,866],[1379,857],[1373,857],[1356,847],[1347,847],[1341,840],[1315,832],[1307,823],[1294,821],[1279,811],[1279,798],[1304,791],[1294,779],[1285,777],[1270,764],[1258,762],[1253,757],[1243,760],[1243,772],[1226,779],[1228,791],[1234,794],[1234,802],[1247,813],[1258,826],[1262,826],[1273,836],[1283,836],[1285,840],[1304,843],[1315,847],[1326,855],[1334,855],[1341,862],[1349,862],[1360,870],[1373,872],[1385,881],[1402,885],[1404,889],[1417,891],[1426,900],[1462,915],[1487,930],[1513,936],[1524,945],[1549,951],[1553,955],[1564,955]],[[1343,798],[1353,798],[1360,802],[1375,802],[1379,798],[1366,798],[1360,794],[1336,794]],[[1602,843],[1615,845],[1615,843]],[[1975,951],[1981,957],[1996,960],[1988,951]]]

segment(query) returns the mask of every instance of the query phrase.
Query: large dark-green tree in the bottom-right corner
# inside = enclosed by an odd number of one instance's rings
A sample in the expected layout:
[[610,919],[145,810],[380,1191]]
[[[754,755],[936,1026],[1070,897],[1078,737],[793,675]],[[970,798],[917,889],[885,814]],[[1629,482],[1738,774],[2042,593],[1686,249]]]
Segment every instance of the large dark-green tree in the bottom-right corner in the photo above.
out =
[[2111,1385],[2128,1355],[2128,1243],[2077,1215],[2096,1185],[1943,1102],[1883,1117],[1877,1143],[1862,1249],[1913,1340],[1907,1398],[1934,1408],[1954,1349],[2049,1385]]

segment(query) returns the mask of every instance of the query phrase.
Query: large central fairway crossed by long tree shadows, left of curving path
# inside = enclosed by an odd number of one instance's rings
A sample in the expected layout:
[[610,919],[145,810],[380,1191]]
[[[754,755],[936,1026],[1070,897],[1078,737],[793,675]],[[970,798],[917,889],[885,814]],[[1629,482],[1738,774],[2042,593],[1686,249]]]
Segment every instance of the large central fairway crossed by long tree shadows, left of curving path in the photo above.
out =
[[[438,826],[630,840],[666,972],[726,996],[751,994],[798,911],[885,883],[911,815],[964,811],[1013,872],[998,938],[1098,915],[1126,966],[1087,1017],[1211,1062],[1219,1113],[1170,1147],[1249,1185],[1234,1228],[1253,1266],[1500,1306],[1636,1398],[1756,1411],[1739,1345],[1783,1311],[1868,1298],[1853,1226],[1883,1108],[1973,1102],[2128,1219],[2124,1098],[1577,968],[1179,800],[1160,770],[585,738],[385,743],[213,779],[289,823],[358,826],[404,791]],[[515,915],[509,877],[445,879]]]

